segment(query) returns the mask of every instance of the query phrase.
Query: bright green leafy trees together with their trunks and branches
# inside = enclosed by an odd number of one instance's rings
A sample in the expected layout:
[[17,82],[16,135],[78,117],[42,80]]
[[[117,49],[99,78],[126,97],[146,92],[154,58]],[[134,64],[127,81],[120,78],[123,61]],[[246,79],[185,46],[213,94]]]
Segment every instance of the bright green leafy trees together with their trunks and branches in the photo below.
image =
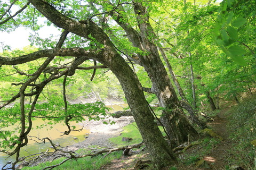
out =
[[[171,147],[199,137],[195,126],[205,126],[199,111],[219,108],[221,99],[239,102],[238,94],[251,93],[255,86],[254,1],[0,3],[0,31],[25,27],[34,32],[31,47],[10,51],[3,45],[0,55],[0,147],[16,155],[13,169],[33,118],[62,121],[69,134],[75,130],[69,121],[105,116],[100,101],[69,103],[90,94],[125,98],[156,169],[161,169],[177,161]],[[58,27],[60,36],[41,38],[40,20]],[[150,104],[160,106],[170,145]],[[17,129],[4,130],[18,122]]]

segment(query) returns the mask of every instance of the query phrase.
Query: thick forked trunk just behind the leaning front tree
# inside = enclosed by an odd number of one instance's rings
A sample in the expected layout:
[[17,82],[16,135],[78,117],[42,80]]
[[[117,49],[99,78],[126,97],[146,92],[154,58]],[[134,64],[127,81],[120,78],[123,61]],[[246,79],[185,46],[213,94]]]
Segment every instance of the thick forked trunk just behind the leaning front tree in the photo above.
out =
[[[122,7],[119,10],[124,11]],[[149,78],[153,84],[152,88],[156,94],[159,104],[165,108],[163,111],[163,121],[167,133],[173,139],[173,146],[187,141],[188,134],[191,139],[197,138],[198,133],[188,122],[185,114],[180,109],[178,97],[175,94],[173,86],[170,82],[169,76],[158,54],[157,46],[154,44],[156,40],[153,28],[149,23],[149,14],[147,7],[142,6],[140,2],[134,3],[134,12],[137,15],[137,23],[140,33],[134,30],[126,21],[122,13],[110,13],[113,19],[125,30],[129,40],[134,47],[138,47],[147,55],[138,53],[137,56],[141,65],[145,68]]]

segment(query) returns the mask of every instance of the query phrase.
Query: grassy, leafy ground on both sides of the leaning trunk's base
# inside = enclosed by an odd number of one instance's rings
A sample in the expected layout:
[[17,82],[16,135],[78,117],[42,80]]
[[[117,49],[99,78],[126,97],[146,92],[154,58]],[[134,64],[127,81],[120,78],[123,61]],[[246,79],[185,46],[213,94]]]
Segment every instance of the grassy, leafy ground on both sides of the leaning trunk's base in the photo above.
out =
[[[190,142],[191,144],[195,144],[194,146],[177,154],[179,164],[167,167],[164,170],[256,169],[256,146],[253,146],[253,141],[256,140],[256,98],[246,99],[239,105],[228,103],[222,106],[222,109],[219,111],[212,113],[213,115],[214,121],[207,123],[207,125],[209,129],[217,133],[223,140],[221,138],[210,137],[202,130],[201,139]],[[121,142],[123,137],[133,138],[133,140],[130,142]],[[118,137],[110,139],[116,147],[132,145],[141,140],[135,123],[126,126]],[[55,169],[73,169],[74,167],[76,167],[75,169],[95,170],[139,169],[139,167],[134,168],[134,166],[138,165],[140,161],[143,162],[150,159],[147,149],[144,150],[143,147],[132,149],[128,156],[122,155],[122,151],[119,151],[103,159],[102,156],[105,155],[99,155],[94,158],[88,157],[86,161],[85,159],[76,160],[75,162],[71,161],[72,164],[65,163]],[[49,165],[50,163],[46,163],[46,166]],[[146,165],[143,169],[154,169],[150,163],[143,165]],[[45,167],[45,165],[39,165],[37,168],[25,167],[23,169],[40,169],[42,167]]]

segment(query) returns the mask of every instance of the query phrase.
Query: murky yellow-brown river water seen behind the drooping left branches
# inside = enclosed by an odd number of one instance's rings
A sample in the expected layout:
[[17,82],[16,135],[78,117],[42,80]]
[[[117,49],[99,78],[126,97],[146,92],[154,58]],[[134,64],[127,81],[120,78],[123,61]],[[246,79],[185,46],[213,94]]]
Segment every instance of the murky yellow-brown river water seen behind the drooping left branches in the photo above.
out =
[[[121,111],[123,110],[123,107],[126,107],[127,104],[122,105],[109,105],[108,107],[112,108],[113,111]],[[41,119],[37,119],[36,121],[33,121],[34,127],[40,126],[41,124],[46,124],[45,121],[42,121]],[[81,125],[78,125],[76,122],[70,122],[70,125],[75,125],[76,129],[83,128]],[[51,128],[53,126],[53,128]],[[8,128],[11,128],[10,126]],[[57,123],[55,125],[46,125],[43,129],[36,129],[34,128],[31,130],[29,135],[36,139],[35,137],[38,137],[40,139],[48,137],[50,138],[55,144],[59,143],[60,146],[66,147],[69,145],[73,145],[74,143],[82,142],[86,140],[85,138],[87,135],[90,134],[90,130],[86,129],[84,127],[83,131],[71,131],[69,135],[62,135],[64,131],[67,131],[67,126],[62,125],[61,123]],[[61,136],[62,135],[62,136]],[[77,139],[74,139],[77,138]],[[37,140],[38,141],[38,140]],[[45,141],[45,143],[38,144],[34,140],[29,140],[28,145],[21,148],[20,157],[25,157],[30,154],[36,154],[39,152],[46,151],[49,149],[49,151],[54,151],[54,149],[50,148],[51,143],[49,141]],[[3,152],[0,152],[0,168],[2,168],[7,162],[12,161],[15,162],[15,156],[9,157],[4,154]]]

